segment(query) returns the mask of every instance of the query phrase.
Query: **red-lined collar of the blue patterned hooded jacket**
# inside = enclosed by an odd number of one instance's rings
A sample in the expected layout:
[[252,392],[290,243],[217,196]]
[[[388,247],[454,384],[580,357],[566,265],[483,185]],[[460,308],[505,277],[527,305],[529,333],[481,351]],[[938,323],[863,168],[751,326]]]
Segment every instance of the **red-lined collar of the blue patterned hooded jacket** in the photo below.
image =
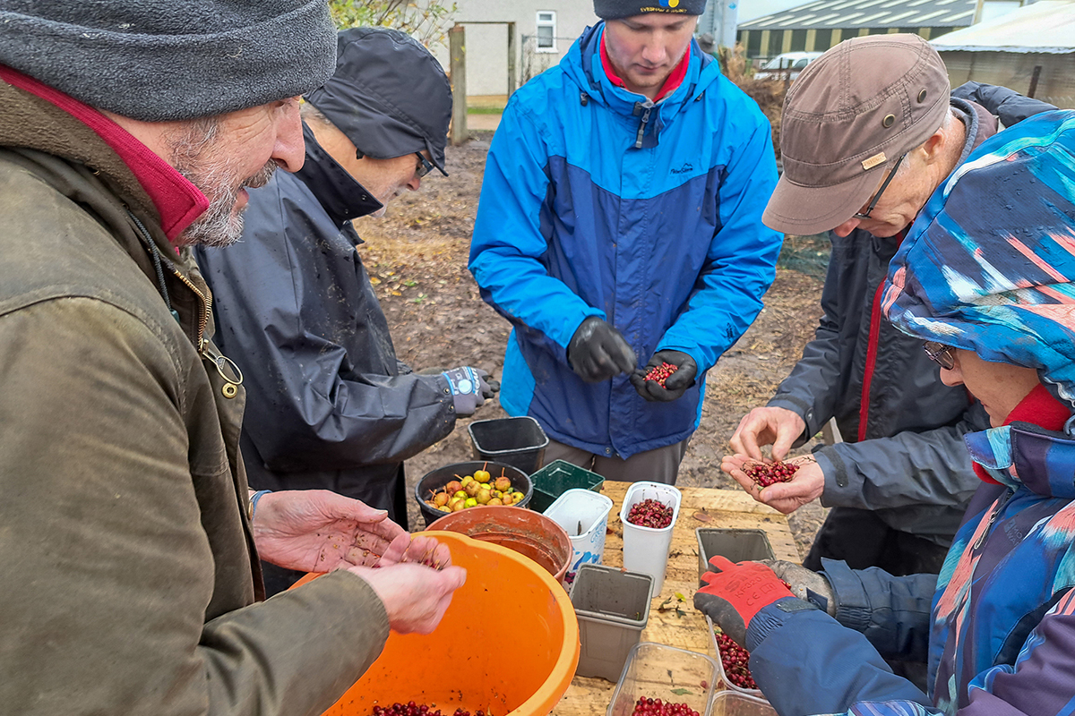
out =
[[[1075,438],[1063,432],[1071,411],[1038,385],[1012,411],[1008,423],[963,436],[971,459],[992,481],[1046,497],[1075,498]],[[1033,422],[1024,422],[1024,420]]]

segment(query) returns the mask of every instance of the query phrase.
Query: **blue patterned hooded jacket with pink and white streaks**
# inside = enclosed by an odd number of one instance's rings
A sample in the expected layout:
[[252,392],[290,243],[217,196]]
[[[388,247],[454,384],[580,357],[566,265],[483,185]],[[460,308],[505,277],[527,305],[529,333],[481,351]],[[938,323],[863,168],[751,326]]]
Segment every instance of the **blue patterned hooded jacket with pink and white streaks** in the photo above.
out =
[[[911,335],[1036,368],[1066,415],[1073,278],[1075,112],[1051,112],[985,142],[937,189],[892,260],[885,311]],[[830,561],[835,619],[786,613],[780,602],[759,612],[747,632],[750,668],[777,711],[1075,713],[1071,423],[966,436],[992,482],[975,495],[935,583]],[[882,657],[928,659],[929,695]]]

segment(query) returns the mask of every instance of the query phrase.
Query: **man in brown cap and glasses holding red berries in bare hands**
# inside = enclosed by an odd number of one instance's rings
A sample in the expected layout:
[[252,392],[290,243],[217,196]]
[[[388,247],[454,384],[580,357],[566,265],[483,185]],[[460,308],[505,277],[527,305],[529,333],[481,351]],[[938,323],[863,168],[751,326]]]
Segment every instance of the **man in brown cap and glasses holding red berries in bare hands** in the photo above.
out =
[[[962,436],[988,420],[962,385],[941,382],[920,340],[880,320],[880,287],[930,194],[997,132],[991,111],[1009,125],[1049,108],[1003,88],[950,92],[940,56],[909,34],[845,41],[788,92],[784,176],[764,221],[792,234],[830,231],[825,312],[776,395],[740,423],[722,467],[782,512],[818,497],[832,508],[803,560],[811,569],[843,559],[893,574],[940,571],[979,483]],[[743,473],[764,444],[783,458],[832,418],[844,442],[815,450],[791,482],[759,491]]]

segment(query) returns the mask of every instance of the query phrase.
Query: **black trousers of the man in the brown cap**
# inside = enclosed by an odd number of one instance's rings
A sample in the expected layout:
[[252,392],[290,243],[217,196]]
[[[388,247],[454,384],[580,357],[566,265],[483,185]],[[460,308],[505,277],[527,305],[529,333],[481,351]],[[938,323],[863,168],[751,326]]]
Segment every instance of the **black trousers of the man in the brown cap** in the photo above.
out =
[[821,571],[821,557],[826,557],[842,559],[851,569],[880,567],[893,576],[937,574],[947,554],[947,546],[892,529],[870,510],[834,507],[803,567]]

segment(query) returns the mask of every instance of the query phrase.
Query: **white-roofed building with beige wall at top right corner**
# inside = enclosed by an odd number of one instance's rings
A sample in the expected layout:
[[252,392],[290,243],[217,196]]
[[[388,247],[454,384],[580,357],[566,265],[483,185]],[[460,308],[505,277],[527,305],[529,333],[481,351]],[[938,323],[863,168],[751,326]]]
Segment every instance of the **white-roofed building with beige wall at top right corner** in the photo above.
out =
[[984,14],[931,44],[954,87],[970,79],[1003,85],[1075,109],[1075,0],[1041,0],[992,19]]

